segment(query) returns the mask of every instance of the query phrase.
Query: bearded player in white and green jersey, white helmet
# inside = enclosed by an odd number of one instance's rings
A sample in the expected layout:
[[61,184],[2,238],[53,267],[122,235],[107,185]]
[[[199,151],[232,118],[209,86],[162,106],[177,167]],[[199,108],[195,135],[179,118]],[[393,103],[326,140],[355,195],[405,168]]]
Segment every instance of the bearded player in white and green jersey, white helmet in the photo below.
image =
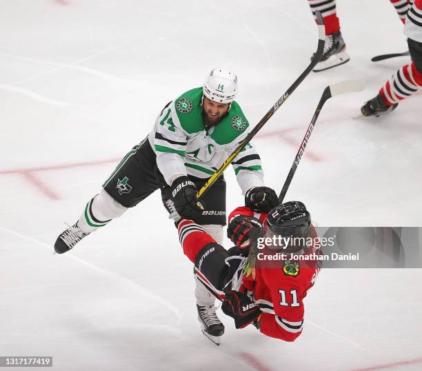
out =
[[[59,254],[160,189],[165,208],[192,219],[217,242],[223,241],[225,180],[220,177],[203,199],[199,188],[214,174],[248,134],[249,123],[234,101],[234,72],[215,68],[201,88],[170,101],[150,134],[121,160],[103,188],[86,204],[77,223],[54,244]],[[232,161],[241,191],[257,212],[277,205],[277,194],[263,183],[261,159],[252,143]],[[205,331],[221,336],[224,327],[215,314],[214,297],[197,281],[199,319]]]

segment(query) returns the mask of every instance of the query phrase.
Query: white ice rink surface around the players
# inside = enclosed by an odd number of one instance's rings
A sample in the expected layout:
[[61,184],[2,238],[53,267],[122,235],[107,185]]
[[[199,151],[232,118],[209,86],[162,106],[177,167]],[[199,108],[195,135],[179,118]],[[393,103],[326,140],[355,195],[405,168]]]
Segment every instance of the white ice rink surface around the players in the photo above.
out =
[[[311,74],[254,141],[266,183],[281,189],[323,88],[363,79],[323,108],[287,199],[321,226],[422,225],[421,93],[353,119],[407,63],[370,61],[406,50],[401,23],[387,0],[338,3],[351,60]],[[213,67],[237,72],[257,123],[316,48],[307,1],[2,1],[0,34],[1,356],[53,356],[57,370],[421,369],[421,270],[325,270],[297,341],[221,313],[217,348],[159,194],[52,254],[163,105]],[[226,179],[230,210],[243,199]]]

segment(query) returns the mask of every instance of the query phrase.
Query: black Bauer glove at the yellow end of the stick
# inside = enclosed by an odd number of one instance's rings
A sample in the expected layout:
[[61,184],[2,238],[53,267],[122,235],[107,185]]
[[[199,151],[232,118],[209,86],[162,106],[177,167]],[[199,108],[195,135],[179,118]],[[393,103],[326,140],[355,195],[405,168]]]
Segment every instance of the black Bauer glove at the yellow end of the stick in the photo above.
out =
[[203,201],[197,199],[197,187],[188,177],[174,179],[171,185],[174,208],[186,219],[195,219],[204,209]]

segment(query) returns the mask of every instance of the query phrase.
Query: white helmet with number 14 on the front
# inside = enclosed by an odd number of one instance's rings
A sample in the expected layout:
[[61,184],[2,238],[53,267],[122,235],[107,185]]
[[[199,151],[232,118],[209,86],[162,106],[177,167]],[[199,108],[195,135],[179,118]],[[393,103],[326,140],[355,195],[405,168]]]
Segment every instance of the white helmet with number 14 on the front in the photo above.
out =
[[214,68],[203,83],[203,94],[219,103],[232,103],[237,94],[237,76],[232,71]]

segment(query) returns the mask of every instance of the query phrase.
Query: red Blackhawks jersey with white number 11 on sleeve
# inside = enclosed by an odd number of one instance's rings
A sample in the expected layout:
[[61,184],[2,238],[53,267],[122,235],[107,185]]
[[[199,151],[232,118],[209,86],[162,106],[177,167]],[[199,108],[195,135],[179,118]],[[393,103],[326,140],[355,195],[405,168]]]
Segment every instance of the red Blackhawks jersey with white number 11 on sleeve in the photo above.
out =
[[[267,214],[257,214],[243,207],[234,210],[229,221],[239,214],[256,217],[263,223],[267,219]],[[306,254],[318,256],[320,253],[319,249],[310,246],[302,257]],[[269,255],[278,258],[281,253],[258,250],[254,266],[247,264],[243,270],[243,288],[252,294],[252,299],[263,312],[259,319],[259,330],[269,337],[294,341],[302,332],[305,311],[303,299],[314,285],[321,261],[264,260]]]

